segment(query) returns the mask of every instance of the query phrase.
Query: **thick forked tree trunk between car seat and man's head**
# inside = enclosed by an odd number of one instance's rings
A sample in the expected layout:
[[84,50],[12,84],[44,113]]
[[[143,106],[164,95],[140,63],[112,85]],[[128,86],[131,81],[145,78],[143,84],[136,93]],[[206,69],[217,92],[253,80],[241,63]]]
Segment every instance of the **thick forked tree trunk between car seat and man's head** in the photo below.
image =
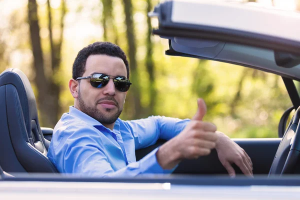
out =
[[[64,2],[62,1],[62,7]],[[49,2],[48,2],[49,8]],[[62,16],[64,16],[65,12],[62,12]],[[40,121],[41,125],[47,127],[54,127],[58,120],[58,111],[59,111],[59,86],[53,81],[53,74],[58,69],[60,62],[60,46],[61,41],[58,44],[54,44],[52,39],[52,28],[51,28],[51,10],[48,10],[49,17],[49,36],[50,36],[50,46],[51,46],[51,68],[52,74],[44,74],[44,62],[42,49],[40,44],[40,36],[39,36],[39,25],[38,25],[38,17],[37,17],[37,4],[36,0],[28,0],[28,23],[30,29],[30,39],[31,39],[31,47],[33,52],[33,68],[35,70],[35,84],[37,86],[37,102],[40,113]],[[63,17],[62,17],[63,20]],[[61,27],[63,27],[63,23],[61,23]],[[61,29],[62,31],[62,29]],[[62,33],[61,33],[62,36]],[[59,52],[58,52],[59,51]]]

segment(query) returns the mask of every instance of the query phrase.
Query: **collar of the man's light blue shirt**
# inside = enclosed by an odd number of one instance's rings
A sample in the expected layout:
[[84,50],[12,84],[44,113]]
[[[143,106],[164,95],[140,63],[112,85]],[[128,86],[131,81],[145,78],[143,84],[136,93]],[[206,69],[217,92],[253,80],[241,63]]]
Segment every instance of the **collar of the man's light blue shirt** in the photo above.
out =
[[[99,121],[97,121],[96,119],[92,118],[91,116],[85,114],[84,112],[78,110],[74,106],[69,107],[69,114],[72,115],[72,116],[78,117],[79,119],[81,119],[82,121],[87,123],[88,125],[92,125],[92,126],[101,125],[101,126],[103,126]],[[117,118],[115,123],[114,123],[114,126],[113,126],[113,129],[116,129],[118,131],[119,131],[119,125],[120,125],[119,120],[121,120],[121,119]],[[103,127],[105,127],[105,126],[103,126]]]

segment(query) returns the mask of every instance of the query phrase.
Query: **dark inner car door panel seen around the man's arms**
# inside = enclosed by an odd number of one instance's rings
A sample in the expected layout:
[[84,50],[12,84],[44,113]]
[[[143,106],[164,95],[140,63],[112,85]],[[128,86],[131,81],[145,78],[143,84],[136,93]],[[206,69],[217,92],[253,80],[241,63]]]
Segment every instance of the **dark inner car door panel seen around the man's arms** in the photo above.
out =
[[[253,163],[254,174],[267,174],[281,138],[245,138],[232,140],[241,146],[250,156]],[[136,150],[136,160],[141,159],[151,150],[163,144],[163,142],[163,140],[158,140],[157,143],[152,146]],[[242,173],[234,164],[233,168],[236,173]],[[207,156],[201,156],[198,159],[193,160],[183,160],[179,163],[173,173],[226,174],[227,171],[220,163],[216,150],[212,150]]]

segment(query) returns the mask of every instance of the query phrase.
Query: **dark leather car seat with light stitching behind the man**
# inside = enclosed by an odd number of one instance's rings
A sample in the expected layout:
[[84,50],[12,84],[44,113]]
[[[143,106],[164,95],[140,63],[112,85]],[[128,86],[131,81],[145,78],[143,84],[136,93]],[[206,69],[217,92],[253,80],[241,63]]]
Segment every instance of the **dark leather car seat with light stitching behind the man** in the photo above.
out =
[[57,172],[46,157],[35,97],[26,75],[17,68],[0,74],[0,166],[6,172]]

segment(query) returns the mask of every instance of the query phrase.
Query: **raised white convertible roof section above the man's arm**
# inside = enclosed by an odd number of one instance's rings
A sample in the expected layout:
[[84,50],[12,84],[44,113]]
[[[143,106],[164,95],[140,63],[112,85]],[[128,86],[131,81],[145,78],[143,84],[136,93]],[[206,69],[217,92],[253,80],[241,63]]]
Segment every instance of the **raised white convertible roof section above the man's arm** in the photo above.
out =
[[158,4],[153,30],[169,55],[249,66],[300,80],[300,13],[256,3],[170,0]]

